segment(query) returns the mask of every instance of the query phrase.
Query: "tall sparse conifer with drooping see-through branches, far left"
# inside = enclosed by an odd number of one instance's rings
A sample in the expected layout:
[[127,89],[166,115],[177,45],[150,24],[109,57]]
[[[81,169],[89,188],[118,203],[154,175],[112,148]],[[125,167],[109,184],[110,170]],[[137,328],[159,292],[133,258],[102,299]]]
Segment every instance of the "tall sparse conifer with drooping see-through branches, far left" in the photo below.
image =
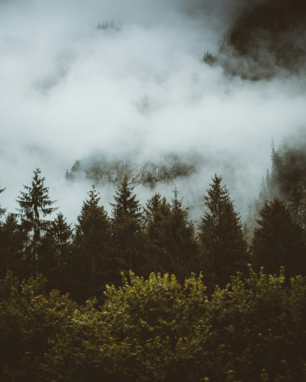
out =
[[30,273],[36,271],[36,261],[38,258],[39,246],[44,232],[47,230],[50,221],[42,219],[52,214],[57,207],[51,207],[56,201],[51,201],[49,197],[49,188],[45,187],[45,177],[41,177],[41,170],[36,168],[33,171],[31,186],[24,186],[27,192],[21,191],[18,196],[20,208],[16,208],[17,217],[21,218],[21,225],[24,232],[28,234],[28,240],[25,245],[25,259],[29,263]]

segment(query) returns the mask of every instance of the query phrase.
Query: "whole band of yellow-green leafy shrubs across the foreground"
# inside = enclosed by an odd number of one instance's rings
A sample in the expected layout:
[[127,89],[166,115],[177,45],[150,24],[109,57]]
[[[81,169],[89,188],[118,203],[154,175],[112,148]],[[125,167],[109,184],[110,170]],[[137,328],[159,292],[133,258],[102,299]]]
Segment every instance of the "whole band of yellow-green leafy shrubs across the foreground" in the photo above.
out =
[[130,271],[103,306],[44,291],[37,275],[0,282],[0,380],[303,381],[306,279],[239,272],[208,298],[194,274]]

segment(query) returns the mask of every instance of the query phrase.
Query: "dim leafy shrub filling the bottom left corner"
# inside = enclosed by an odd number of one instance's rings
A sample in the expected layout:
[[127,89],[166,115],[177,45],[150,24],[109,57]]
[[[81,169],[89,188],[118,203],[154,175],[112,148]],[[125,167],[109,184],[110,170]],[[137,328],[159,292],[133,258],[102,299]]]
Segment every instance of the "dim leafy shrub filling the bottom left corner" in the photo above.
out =
[[47,382],[41,364],[57,335],[78,308],[59,291],[49,294],[42,275],[20,282],[8,272],[0,280],[0,380]]

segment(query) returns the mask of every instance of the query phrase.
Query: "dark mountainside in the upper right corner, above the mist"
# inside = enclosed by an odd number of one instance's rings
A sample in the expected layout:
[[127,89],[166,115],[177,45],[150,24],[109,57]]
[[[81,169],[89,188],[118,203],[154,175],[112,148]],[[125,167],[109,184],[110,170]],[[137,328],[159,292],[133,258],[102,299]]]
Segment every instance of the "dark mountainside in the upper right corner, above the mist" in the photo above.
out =
[[306,2],[266,0],[245,11],[220,47],[203,61],[244,79],[306,73]]

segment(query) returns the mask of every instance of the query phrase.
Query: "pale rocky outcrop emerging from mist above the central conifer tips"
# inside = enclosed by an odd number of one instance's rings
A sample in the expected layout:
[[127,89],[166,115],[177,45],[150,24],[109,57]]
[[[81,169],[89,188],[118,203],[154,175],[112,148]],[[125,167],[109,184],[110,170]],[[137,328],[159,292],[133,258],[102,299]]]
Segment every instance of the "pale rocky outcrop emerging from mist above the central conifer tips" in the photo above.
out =
[[66,179],[73,180],[85,175],[96,184],[118,185],[126,174],[129,183],[154,188],[158,182],[169,182],[195,173],[199,163],[203,163],[203,158],[199,156],[178,155],[166,155],[158,163],[144,161],[141,165],[132,160],[113,162],[105,159],[84,162],[77,160],[70,172],[67,170]]

